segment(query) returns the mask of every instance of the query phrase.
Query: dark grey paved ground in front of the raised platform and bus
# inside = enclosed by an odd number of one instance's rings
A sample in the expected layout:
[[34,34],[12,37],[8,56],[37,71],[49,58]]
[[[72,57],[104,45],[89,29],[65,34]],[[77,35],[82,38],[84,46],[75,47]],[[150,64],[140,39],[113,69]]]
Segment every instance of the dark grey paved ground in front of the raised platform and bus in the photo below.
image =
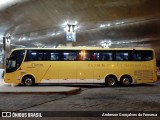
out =
[[[55,87],[54,85],[52,87]],[[58,87],[58,86],[56,86]],[[0,111],[160,111],[160,81],[131,87],[105,87],[99,84],[64,85],[80,87],[81,92],[68,94],[15,94],[0,93]],[[58,112],[58,114],[61,112]],[[54,114],[54,113],[53,113]],[[80,112],[81,114],[81,112]],[[20,118],[19,118],[20,119]],[[35,118],[33,118],[34,120]],[[127,117],[49,117],[38,119],[127,119]],[[139,118],[129,118],[138,120]],[[159,117],[143,117],[142,120],[159,120]],[[128,120],[128,119],[127,119]]]

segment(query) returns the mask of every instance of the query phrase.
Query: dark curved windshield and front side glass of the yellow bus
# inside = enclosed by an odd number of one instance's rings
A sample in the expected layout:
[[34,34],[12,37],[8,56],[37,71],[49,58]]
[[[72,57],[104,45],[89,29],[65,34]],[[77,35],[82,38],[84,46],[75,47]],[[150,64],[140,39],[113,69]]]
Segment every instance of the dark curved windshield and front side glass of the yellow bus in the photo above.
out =
[[24,50],[13,51],[6,62],[6,73],[16,71],[22,64],[24,58]]

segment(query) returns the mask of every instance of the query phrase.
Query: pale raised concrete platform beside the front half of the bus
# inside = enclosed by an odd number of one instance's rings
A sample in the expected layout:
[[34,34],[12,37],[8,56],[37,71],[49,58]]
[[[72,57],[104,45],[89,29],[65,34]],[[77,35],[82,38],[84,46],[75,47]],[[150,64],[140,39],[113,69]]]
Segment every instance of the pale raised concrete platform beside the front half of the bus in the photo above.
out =
[[76,94],[80,92],[80,87],[69,86],[53,86],[48,84],[41,84],[37,86],[12,86],[11,84],[4,83],[0,79],[0,93],[63,93],[63,94]]

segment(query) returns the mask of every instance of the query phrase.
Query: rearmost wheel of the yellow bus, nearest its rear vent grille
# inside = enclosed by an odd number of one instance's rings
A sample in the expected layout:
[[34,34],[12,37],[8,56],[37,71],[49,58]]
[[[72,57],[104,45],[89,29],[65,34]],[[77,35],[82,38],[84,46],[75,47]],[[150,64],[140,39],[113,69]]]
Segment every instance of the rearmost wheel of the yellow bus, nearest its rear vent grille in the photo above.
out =
[[129,75],[124,75],[120,79],[121,85],[124,87],[130,86],[132,83],[132,77]]

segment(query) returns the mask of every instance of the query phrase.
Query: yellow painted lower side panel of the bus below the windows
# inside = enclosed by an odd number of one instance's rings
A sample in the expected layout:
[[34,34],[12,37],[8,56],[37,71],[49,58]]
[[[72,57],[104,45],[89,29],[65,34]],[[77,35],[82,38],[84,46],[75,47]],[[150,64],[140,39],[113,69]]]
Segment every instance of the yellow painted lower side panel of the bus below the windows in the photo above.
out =
[[[40,49],[40,48],[38,48]],[[65,48],[67,49],[67,48]],[[69,50],[71,50],[70,48]],[[75,48],[73,48],[75,49]],[[78,50],[80,48],[77,48]],[[82,49],[82,48],[81,48]],[[83,48],[85,49],[85,48]],[[87,48],[86,50],[92,50]],[[97,48],[104,50],[104,48]],[[113,49],[114,50],[114,49]],[[121,49],[118,49],[121,50]],[[127,49],[128,50],[128,49]],[[81,51],[82,56],[86,55],[85,50]],[[36,83],[40,83],[42,79],[93,79],[105,80],[108,74],[114,74],[119,78],[124,75],[130,75],[137,83],[154,82],[157,79],[155,55],[151,61],[30,61],[23,62],[18,69],[12,73],[5,74],[6,83],[21,83],[22,77],[30,74],[35,77]],[[153,72],[152,80],[138,79],[134,74],[136,70],[150,70]],[[16,79],[20,76],[20,80]],[[143,76],[142,76],[143,77]],[[76,81],[75,81],[76,83]]]

